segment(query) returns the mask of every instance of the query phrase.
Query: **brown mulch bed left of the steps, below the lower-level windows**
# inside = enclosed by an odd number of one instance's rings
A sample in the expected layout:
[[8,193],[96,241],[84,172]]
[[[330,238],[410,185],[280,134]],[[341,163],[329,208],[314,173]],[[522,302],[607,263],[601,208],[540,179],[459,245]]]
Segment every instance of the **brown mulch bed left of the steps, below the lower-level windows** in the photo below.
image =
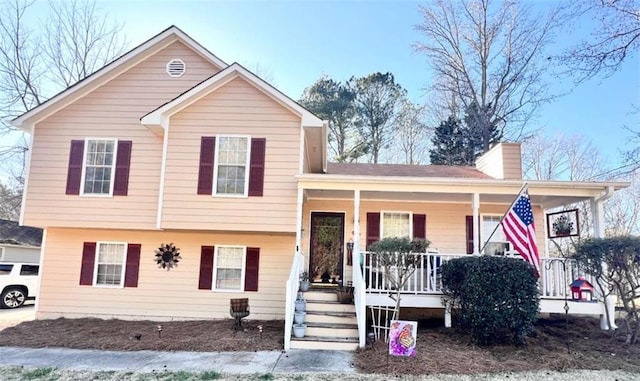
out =
[[201,352],[282,349],[283,321],[244,320],[243,327],[236,333],[233,320],[33,320],[0,331],[0,346]]

